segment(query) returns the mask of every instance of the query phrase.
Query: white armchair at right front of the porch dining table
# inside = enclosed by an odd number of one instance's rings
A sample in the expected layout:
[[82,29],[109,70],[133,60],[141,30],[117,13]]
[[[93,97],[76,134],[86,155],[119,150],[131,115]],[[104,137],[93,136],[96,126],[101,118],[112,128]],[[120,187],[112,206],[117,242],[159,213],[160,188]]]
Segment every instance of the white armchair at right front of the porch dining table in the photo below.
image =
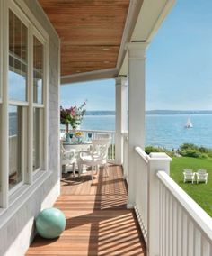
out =
[[92,143],[93,143],[92,150],[80,151],[77,164],[79,168],[79,176],[82,173],[83,165],[92,167],[92,181],[93,181],[93,170],[94,168],[99,169],[100,165],[104,166],[104,169],[107,172],[107,176],[109,176],[107,157],[108,157],[108,148],[110,145],[110,139],[93,140]]

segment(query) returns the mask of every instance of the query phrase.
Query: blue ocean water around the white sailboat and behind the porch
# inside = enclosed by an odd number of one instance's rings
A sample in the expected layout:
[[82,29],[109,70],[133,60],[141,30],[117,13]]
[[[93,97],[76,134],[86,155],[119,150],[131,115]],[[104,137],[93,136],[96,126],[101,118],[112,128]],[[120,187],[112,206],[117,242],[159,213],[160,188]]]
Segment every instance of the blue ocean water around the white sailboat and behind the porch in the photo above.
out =
[[[146,145],[177,149],[189,142],[212,148],[212,114],[191,114],[193,128],[184,128],[186,114],[146,114]],[[87,115],[81,129],[115,130],[114,115]]]

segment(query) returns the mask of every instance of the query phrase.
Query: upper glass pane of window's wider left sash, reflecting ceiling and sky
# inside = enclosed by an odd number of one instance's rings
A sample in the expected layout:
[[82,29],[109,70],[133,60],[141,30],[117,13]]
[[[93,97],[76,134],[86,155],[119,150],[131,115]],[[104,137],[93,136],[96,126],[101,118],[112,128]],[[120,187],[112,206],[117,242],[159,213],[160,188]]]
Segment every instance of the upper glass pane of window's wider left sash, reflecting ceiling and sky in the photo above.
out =
[[9,14],[9,98],[27,100],[27,27]]

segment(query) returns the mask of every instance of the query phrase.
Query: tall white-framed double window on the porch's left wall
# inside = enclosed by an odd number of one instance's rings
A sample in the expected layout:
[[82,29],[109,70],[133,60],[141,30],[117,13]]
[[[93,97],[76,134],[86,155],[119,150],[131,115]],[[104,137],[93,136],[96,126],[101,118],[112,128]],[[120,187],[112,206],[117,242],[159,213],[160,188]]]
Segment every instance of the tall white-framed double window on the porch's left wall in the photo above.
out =
[[0,1],[0,26],[0,207],[7,207],[47,169],[48,35],[23,1]]

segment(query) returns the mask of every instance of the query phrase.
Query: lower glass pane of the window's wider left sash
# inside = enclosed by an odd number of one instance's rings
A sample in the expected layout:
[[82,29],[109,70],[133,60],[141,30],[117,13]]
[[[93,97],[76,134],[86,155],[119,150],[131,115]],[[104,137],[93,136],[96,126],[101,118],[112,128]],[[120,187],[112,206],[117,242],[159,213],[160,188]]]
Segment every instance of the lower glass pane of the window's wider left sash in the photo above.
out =
[[22,107],[9,106],[9,187],[22,181]]

